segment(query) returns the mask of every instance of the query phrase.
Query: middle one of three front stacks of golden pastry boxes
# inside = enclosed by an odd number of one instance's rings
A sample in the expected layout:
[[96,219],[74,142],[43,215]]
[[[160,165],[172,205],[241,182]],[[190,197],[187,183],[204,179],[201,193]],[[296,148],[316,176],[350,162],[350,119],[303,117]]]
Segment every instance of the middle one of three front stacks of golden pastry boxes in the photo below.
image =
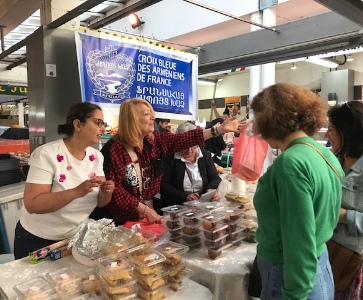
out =
[[167,292],[167,273],[163,268],[165,256],[144,245],[128,250],[126,258],[134,267],[137,295],[144,300],[164,298]]

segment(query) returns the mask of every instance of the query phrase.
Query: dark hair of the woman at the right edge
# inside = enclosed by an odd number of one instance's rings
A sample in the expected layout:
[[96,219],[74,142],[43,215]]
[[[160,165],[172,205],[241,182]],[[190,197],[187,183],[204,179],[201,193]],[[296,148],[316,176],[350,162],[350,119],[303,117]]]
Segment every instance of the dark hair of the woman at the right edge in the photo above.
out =
[[340,138],[338,157],[359,158],[363,155],[363,103],[349,101],[328,111],[329,122],[334,125]]

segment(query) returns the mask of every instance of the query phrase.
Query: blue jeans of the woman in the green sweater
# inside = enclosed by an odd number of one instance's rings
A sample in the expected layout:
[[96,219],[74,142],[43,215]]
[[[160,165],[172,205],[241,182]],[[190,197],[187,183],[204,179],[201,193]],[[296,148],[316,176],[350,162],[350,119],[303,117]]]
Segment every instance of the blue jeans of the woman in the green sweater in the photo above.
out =
[[[262,279],[261,300],[282,299],[283,264],[268,263],[257,257],[258,268]],[[333,300],[334,280],[329,263],[328,251],[325,251],[318,260],[314,287],[308,294],[307,300]]]

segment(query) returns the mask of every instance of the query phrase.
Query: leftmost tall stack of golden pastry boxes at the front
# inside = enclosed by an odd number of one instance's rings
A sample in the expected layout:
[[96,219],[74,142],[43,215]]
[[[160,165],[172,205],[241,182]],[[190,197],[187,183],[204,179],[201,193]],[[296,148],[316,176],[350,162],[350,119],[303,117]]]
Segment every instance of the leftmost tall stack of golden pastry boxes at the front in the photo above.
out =
[[133,266],[117,254],[97,260],[101,289],[111,300],[135,297]]

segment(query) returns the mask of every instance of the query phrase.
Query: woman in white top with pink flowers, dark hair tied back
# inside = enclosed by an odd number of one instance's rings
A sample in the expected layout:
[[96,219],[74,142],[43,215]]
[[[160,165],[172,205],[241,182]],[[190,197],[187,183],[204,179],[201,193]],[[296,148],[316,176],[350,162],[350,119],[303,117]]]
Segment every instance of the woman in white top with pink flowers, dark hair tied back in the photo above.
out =
[[58,125],[66,137],[33,151],[15,230],[16,259],[72,237],[96,206],[111,200],[114,184],[105,179],[102,154],[91,147],[104,131],[99,106],[74,104]]

